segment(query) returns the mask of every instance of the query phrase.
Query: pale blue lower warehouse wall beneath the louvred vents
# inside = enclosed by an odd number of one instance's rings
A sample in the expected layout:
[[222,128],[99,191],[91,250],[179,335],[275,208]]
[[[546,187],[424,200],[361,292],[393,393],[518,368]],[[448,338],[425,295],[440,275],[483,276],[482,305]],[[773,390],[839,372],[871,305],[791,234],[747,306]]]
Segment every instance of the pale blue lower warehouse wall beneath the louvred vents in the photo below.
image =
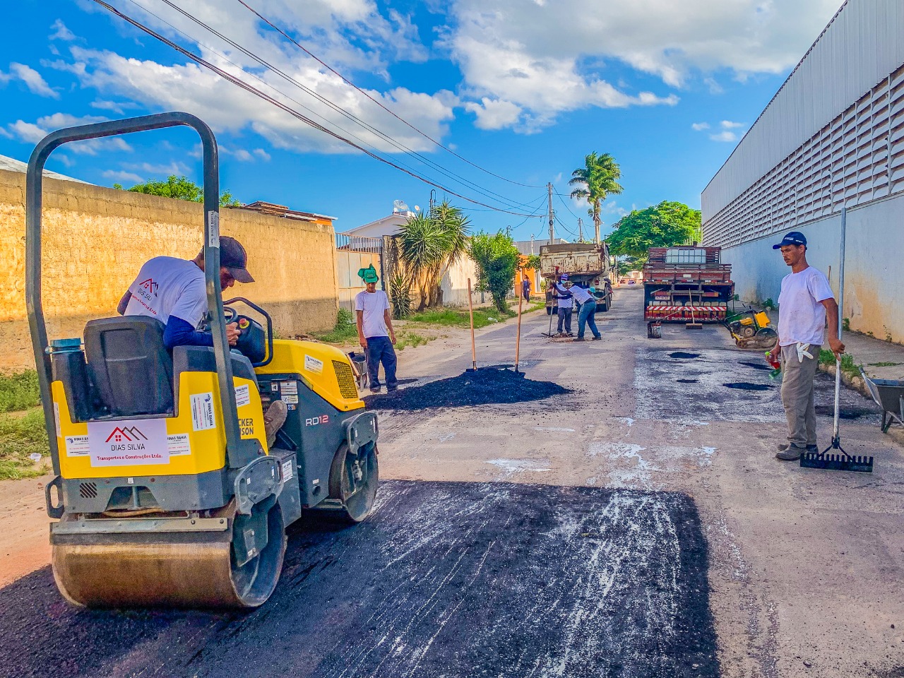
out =
[[[904,196],[868,202],[847,212],[843,317],[851,329],[904,343]],[[806,236],[807,261],[828,277],[838,297],[841,216],[787,229]],[[772,245],[784,231],[722,250],[741,299],[778,301],[789,272]]]

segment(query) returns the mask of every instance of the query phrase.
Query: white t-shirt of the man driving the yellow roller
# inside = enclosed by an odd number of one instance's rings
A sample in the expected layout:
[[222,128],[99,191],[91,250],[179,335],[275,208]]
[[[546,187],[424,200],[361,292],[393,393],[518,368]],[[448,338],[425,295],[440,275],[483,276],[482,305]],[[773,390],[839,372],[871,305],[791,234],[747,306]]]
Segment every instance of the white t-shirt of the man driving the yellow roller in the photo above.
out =
[[186,259],[150,259],[128,291],[132,298],[128,300],[126,315],[149,315],[164,325],[170,315],[175,315],[197,327],[207,311],[204,272]]

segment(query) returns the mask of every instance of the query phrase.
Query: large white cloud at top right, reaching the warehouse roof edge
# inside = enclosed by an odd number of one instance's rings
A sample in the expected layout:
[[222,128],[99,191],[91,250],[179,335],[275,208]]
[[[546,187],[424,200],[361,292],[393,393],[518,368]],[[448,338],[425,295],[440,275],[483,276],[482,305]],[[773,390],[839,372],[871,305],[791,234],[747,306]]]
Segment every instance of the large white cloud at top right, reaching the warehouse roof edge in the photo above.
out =
[[[549,124],[560,111],[674,104],[674,94],[632,92],[606,79],[607,61],[683,87],[696,73],[785,71],[839,0],[635,0],[556,3],[454,0],[442,44],[474,99],[523,108],[514,127]],[[630,79],[628,79],[630,80]],[[719,85],[704,80],[712,90]],[[478,118],[479,122],[479,118]]]

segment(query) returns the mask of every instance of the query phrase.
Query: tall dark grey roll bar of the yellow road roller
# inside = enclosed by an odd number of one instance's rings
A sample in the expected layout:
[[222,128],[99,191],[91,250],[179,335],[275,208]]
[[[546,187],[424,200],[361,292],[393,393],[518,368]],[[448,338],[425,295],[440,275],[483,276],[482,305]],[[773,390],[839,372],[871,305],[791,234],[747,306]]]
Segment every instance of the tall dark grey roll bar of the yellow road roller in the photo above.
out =
[[220,167],[217,141],[213,132],[200,118],[189,113],[158,113],[138,118],[110,120],[92,125],[66,127],[44,137],[35,146],[28,161],[25,181],[25,304],[28,325],[32,334],[34,364],[41,388],[44,424],[50,438],[53,472],[60,475],[60,451],[51,396],[51,359],[48,352],[47,327],[41,296],[41,236],[42,236],[42,181],[44,164],[59,146],[72,141],[115,137],[145,132],[165,127],[192,127],[201,137],[203,146],[204,177],[204,280],[207,288],[207,308],[211,316],[213,352],[216,358],[217,378],[223,423],[226,429],[226,461],[232,469],[246,466],[258,456],[259,445],[255,440],[242,440],[239,418],[232,386],[232,363],[229,344],[226,341],[226,322],[223,317],[220,288]]

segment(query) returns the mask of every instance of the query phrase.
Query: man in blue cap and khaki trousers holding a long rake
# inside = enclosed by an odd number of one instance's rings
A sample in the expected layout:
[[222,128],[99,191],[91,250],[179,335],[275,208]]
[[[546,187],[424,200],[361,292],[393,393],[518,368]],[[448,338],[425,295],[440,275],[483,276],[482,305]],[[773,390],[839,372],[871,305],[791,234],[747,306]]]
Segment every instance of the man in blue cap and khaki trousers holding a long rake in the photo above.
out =
[[788,441],[778,446],[776,457],[796,461],[816,447],[815,377],[819,351],[829,323],[829,347],[838,360],[844,344],[838,339],[838,304],[824,273],[806,262],[806,238],[791,231],[772,246],[781,250],[791,272],[782,279],[778,297],[778,341],[767,359],[781,358],[782,404],[788,424]]

